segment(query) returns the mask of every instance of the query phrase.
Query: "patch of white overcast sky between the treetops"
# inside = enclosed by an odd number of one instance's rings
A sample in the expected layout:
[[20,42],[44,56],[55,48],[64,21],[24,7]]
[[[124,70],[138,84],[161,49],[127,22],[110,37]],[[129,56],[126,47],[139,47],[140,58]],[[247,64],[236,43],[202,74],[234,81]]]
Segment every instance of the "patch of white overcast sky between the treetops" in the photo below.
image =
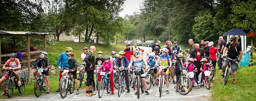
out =
[[142,1],[143,0],[126,0],[122,7],[124,10],[119,13],[119,16],[124,17],[126,14],[132,15],[133,12],[139,12]]

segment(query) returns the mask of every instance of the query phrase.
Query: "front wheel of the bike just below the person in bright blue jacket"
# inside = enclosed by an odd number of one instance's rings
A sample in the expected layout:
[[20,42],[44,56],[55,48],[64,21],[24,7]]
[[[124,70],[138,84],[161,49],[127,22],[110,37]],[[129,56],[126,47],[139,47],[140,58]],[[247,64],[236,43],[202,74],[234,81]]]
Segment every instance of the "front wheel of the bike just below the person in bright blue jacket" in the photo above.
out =
[[61,98],[65,98],[68,94],[68,87],[69,87],[69,82],[67,79],[62,79],[60,83],[60,96]]

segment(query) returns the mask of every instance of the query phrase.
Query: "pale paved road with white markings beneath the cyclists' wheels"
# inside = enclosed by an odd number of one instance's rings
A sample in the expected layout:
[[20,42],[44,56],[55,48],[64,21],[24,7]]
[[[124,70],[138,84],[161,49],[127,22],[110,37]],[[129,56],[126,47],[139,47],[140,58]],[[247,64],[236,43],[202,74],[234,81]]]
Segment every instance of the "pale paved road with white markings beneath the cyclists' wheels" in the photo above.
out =
[[[149,51],[149,47],[141,47],[145,51]],[[152,86],[151,89],[149,89],[150,95],[146,95],[146,93],[140,93],[140,99],[141,101],[159,101],[159,100],[209,100],[211,97],[210,90],[207,90],[205,87],[197,89],[193,88],[193,90],[188,94],[188,95],[180,95],[179,93],[175,93],[174,89],[175,84],[170,83],[169,84],[169,91],[170,94],[166,94],[165,90],[166,88],[164,87],[162,89],[162,97],[159,97],[159,92],[158,92],[158,87],[157,86]],[[196,84],[195,84],[196,86]],[[35,97],[35,96],[28,96],[28,97],[15,97],[15,98],[10,98],[10,99],[4,99],[8,101],[14,101],[14,100],[20,100],[20,101],[69,101],[69,100],[74,100],[74,101],[79,101],[79,100],[90,100],[90,101],[110,101],[110,100],[124,100],[124,101],[135,101],[138,100],[137,96],[134,96],[135,90],[131,89],[130,93],[127,93],[127,90],[125,92],[121,93],[121,97],[118,97],[117,95],[117,89],[115,89],[115,94],[110,95],[107,94],[107,91],[104,90],[103,96],[101,98],[98,97],[98,92],[95,96],[92,97],[86,97],[85,96],[85,91],[84,89],[80,90],[80,94],[76,95],[76,91],[74,91],[73,94],[70,94],[68,92],[68,96],[64,99],[60,97],[60,93],[50,93],[46,94],[43,92],[41,97]]]

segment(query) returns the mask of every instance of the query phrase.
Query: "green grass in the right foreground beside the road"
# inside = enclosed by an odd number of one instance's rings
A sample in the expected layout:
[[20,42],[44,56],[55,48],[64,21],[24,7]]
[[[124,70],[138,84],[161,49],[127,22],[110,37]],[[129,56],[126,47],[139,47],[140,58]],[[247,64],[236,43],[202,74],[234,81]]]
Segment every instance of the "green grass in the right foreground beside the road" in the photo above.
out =
[[[253,59],[255,62],[256,59]],[[253,63],[251,62],[251,63]],[[236,84],[232,83],[233,75],[230,75],[226,85],[222,84],[223,78],[220,75],[221,70],[216,71],[216,80],[211,87],[212,100],[241,100],[254,101],[256,98],[256,65],[239,66],[236,75]]]

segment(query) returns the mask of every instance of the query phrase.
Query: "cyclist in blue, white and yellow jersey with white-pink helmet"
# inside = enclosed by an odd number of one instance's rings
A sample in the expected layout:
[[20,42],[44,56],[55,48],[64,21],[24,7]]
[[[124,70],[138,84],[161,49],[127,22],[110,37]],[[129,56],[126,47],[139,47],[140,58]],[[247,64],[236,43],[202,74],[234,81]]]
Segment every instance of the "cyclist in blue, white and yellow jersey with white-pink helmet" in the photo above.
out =
[[[164,69],[164,78],[165,78],[165,82],[166,82],[166,93],[169,94],[169,81],[168,81],[169,79],[168,78],[169,78],[169,70],[172,71],[172,67],[171,67],[172,61],[168,54],[169,50],[167,48],[163,48],[161,51],[162,51],[162,54],[157,59],[155,66],[157,66],[159,61],[161,61],[161,66],[168,67],[168,68]],[[168,62],[170,65],[168,64]],[[159,77],[161,71],[162,71],[162,69],[159,69],[158,73],[156,74],[156,77]]]

